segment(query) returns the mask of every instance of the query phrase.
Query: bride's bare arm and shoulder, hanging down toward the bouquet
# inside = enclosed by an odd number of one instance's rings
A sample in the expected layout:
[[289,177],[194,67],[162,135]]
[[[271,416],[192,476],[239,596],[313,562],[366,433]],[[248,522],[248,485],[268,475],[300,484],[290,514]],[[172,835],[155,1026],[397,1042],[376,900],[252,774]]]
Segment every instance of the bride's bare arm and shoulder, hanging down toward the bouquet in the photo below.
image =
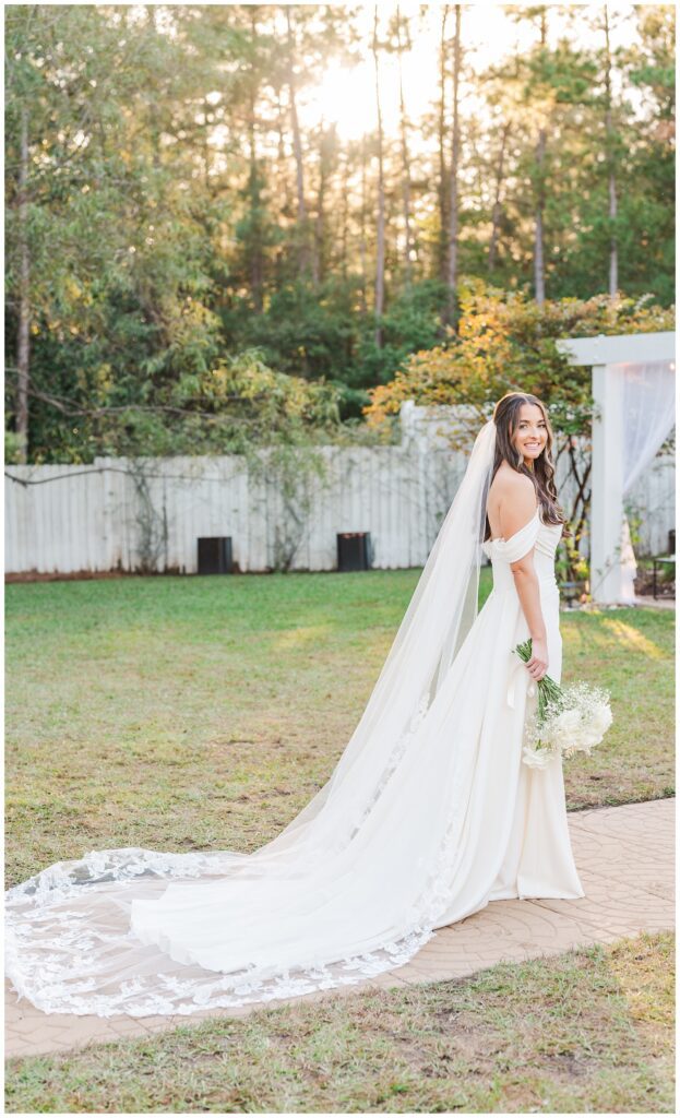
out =
[[[499,510],[503,539],[518,532],[536,513],[536,490],[531,479],[520,474],[509,479],[507,485]],[[541,680],[548,671],[548,636],[533,566],[533,548],[521,559],[511,562],[510,570],[531,637],[531,659],[527,662],[527,671],[531,679]]]

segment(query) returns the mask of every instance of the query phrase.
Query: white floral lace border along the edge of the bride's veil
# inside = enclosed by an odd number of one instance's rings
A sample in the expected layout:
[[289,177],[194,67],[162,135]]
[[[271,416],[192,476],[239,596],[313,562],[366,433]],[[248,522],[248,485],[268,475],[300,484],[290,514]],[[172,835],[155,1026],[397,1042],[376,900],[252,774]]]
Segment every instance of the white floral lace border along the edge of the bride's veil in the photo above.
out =
[[[397,742],[385,784],[423,726],[428,709],[427,699],[427,695],[423,697],[408,732]],[[378,796],[376,790],[371,804],[360,818],[353,821],[352,834],[358,831]],[[268,976],[258,974],[256,965],[228,975],[217,975],[200,967],[187,966],[178,967],[177,973],[169,967],[163,973],[154,964],[151,976],[140,974],[121,980],[117,988],[110,993],[96,993],[102,987],[101,975],[95,973],[84,978],[84,972],[97,972],[97,960],[101,958],[105,963],[111,947],[120,950],[122,938],[130,942],[133,951],[139,949],[139,940],[132,931],[123,936],[121,930],[107,931],[105,927],[93,926],[83,911],[69,908],[69,900],[82,900],[89,885],[102,889],[108,884],[121,887],[112,901],[119,904],[121,900],[124,902],[124,891],[140,878],[157,878],[159,882],[205,879],[219,875],[234,861],[247,858],[220,852],[166,854],[142,847],[125,847],[92,851],[78,861],[57,863],[8,891],[6,968],[19,994],[28,987],[30,1001],[46,1013],[94,1013],[105,1017],[120,1014],[133,1017],[157,1014],[183,1016],[199,1010],[234,1008],[253,1002],[266,1003],[365,983],[367,978],[408,963],[435,935],[433,926],[452,898],[451,887],[446,888],[445,882],[454,878],[462,818],[460,807],[454,808],[436,863],[424,877],[421,897],[405,916],[407,930],[395,941],[381,944],[377,950],[349,956],[333,964],[284,968]],[[423,859],[421,866],[426,870]],[[26,902],[30,908],[28,921],[23,918]],[[44,935],[40,934],[41,923]]]

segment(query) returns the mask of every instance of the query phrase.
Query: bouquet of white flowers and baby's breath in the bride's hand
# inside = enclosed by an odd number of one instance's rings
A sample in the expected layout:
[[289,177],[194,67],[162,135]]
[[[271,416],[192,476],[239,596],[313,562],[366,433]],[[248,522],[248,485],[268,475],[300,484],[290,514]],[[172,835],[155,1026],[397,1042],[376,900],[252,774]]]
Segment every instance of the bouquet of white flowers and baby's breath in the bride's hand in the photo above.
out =
[[[531,637],[513,651],[527,663],[531,660]],[[560,688],[549,675],[544,675],[537,686],[537,709],[525,727],[525,765],[545,768],[558,752],[563,757],[589,754],[612,724],[610,692],[588,683]]]

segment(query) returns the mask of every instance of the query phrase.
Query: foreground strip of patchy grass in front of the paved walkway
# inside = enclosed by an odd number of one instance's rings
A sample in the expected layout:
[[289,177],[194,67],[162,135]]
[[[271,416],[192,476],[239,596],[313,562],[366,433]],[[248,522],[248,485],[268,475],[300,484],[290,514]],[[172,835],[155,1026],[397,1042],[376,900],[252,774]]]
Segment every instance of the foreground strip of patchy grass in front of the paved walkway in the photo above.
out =
[[10,1060],[9,1112],[668,1114],[673,937]]

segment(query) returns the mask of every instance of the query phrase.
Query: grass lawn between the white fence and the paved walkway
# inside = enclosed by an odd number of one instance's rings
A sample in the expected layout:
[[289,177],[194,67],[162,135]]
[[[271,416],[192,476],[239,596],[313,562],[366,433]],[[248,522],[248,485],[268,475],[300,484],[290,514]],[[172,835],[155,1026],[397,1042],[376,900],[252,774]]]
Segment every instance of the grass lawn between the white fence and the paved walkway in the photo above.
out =
[[[490,571],[483,571],[482,599]],[[254,850],[330,775],[418,571],[18,584],[6,595],[8,884],[93,847]],[[565,613],[614,724],[572,809],[673,792],[674,613]]]

